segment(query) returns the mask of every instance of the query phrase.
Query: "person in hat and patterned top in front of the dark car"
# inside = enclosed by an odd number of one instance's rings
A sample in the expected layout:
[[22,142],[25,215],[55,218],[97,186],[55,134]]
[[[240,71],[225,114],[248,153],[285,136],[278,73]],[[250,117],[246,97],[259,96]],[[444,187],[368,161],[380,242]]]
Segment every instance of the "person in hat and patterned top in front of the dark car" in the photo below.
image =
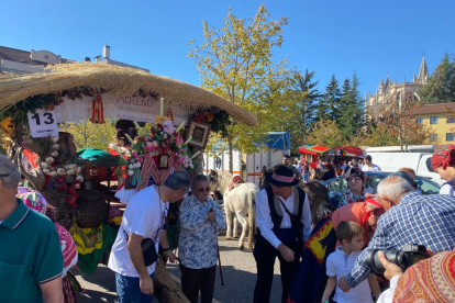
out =
[[351,168],[347,170],[344,178],[346,179],[349,189],[342,194],[339,207],[348,205],[354,202],[363,202],[365,201],[365,195],[367,193],[373,193],[371,188],[364,187],[365,175],[360,169],[356,167]]

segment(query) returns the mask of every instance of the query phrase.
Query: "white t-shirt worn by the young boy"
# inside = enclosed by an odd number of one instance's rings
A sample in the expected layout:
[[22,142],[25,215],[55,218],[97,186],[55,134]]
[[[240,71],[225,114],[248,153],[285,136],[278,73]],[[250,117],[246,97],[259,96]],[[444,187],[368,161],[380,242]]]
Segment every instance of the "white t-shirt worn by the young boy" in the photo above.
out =
[[[336,281],[342,277],[349,274],[357,257],[362,251],[352,251],[348,256],[341,250],[342,246],[336,247],[335,251],[330,254],[326,262],[326,274],[335,277]],[[336,282],[335,296],[336,303],[373,303],[371,290],[369,289],[368,279],[362,281],[357,287],[352,288],[348,292],[343,292]]]

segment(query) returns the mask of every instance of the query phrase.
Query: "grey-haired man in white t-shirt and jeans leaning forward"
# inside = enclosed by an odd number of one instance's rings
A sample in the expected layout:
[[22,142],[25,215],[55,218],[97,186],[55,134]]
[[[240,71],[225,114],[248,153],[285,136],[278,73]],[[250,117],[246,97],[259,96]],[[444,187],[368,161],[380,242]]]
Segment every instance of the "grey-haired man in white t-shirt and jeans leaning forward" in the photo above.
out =
[[119,303],[152,302],[156,262],[146,265],[142,242],[152,239],[156,254],[159,243],[166,258],[175,262],[166,234],[167,210],[169,203],[184,199],[190,181],[187,172],[174,172],[164,184],[145,188],[130,200],[108,265],[115,271]]

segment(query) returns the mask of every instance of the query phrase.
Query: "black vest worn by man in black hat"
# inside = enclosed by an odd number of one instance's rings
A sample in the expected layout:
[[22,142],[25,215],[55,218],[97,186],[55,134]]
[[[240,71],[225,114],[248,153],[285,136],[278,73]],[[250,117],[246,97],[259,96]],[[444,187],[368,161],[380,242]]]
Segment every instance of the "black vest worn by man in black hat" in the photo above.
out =
[[[299,201],[298,201],[298,207],[295,206],[293,213],[291,213],[292,218],[293,218],[291,220],[291,225],[292,225],[292,232],[295,236],[300,242],[302,240],[303,223],[301,222],[301,218],[302,218],[306,192],[299,187],[292,187],[293,191],[296,189],[299,195],[298,197]],[[266,192],[267,192],[267,198],[268,198],[268,207],[270,209],[270,217],[271,217],[271,222],[274,223],[274,227],[271,228],[271,231],[275,233],[281,225],[281,221],[282,221],[281,206],[280,206],[280,202],[278,198],[276,198],[276,195],[271,191],[271,187],[267,187]],[[297,198],[296,192],[295,192],[295,198]],[[296,209],[298,210],[297,214],[296,214]],[[295,222],[297,222],[297,225]]]

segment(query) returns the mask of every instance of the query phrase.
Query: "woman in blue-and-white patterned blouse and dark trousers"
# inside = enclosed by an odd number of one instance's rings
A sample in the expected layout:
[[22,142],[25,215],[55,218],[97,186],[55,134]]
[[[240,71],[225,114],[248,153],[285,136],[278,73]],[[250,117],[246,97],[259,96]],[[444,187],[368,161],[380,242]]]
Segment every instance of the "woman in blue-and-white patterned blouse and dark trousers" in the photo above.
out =
[[191,181],[192,195],[180,206],[180,239],[178,257],[181,289],[191,303],[209,303],[213,299],[218,232],[225,228],[224,215],[209,198],[209,179],[203,175]]

